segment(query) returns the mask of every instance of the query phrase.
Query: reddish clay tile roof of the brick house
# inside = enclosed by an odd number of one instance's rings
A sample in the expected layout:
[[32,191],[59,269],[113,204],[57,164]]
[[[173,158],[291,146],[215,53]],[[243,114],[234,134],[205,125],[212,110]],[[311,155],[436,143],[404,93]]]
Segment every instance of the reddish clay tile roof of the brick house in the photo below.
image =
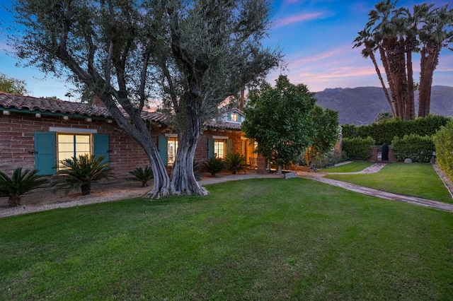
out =
[[[32,96],[13,95],[0,92],[0,110],[4,108],[23,112],[42,112],[51,114],[82,115],[86,117],[112,118],[106,107],[89,105],[82,102],[69,102],[58,99],[34,98]],[[127,113],[124,112],[125,116]],[[160,112],[142,112],[142,118],[150,122],[165,124],[166,117]],[[241,124],[235,122],[211,122],[208,127],[240,131]]]

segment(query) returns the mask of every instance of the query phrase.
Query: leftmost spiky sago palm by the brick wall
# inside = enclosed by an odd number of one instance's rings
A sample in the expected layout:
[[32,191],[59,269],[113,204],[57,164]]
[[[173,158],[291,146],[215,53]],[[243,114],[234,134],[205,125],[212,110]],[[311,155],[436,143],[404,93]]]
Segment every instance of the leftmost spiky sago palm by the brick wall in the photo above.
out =
[[8,206],[20,206],[23,194],[49,182],[44,176],[36,175],[37,173],[38,170],[22,171],[22,167],[18,167],[10,178],[4,172],[0,172],[0,196],[9,197]]

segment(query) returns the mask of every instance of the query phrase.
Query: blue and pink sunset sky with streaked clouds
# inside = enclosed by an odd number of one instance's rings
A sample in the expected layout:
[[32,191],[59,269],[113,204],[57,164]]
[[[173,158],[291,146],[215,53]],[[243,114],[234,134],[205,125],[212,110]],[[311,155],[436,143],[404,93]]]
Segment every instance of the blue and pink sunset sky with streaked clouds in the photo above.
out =
[[[412,8],[424,1],[399,0],[399,6]],[[436,6],[452,1],[428,1]],[[13,22],[4,6],[11,1],[0,0],[0,22],[8,25]],[[370,59],[362,58],[361,49],[352,49],[352,41],[357,32],[367,23],[367,13],[374,8],[375,1],[344,0],[281,0],[273,1],[273,26],[269,36],[263,41],[268,47],[280,47],[285,55],[285,66],[268,75],[273,84],[280,73],[288,76],[291,83],[304,83],[311,92],[326,88],[355,88],[380,86],[376,71]],[[8,77],[18,78],[27,83],[30,95],[35,97],[64,95],[73,88],[64,78],[47,76],[33,66],[23,66],[11,54],[6,35],[0,27],[0,72]],[[414,57],[414,78],[419,77],[419,59]],[[383,69],[381,67],[381,71]],[[453,85],[453,52],[443,49],[439,65],[434,73],[433,85]]]

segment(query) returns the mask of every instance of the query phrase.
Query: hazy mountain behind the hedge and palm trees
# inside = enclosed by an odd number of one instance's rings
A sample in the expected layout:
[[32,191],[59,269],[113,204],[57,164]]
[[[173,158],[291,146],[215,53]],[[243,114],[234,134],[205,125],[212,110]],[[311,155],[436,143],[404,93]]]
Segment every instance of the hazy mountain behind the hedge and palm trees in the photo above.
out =
[[[382,88],[333,88],[315,93],[317,105],[338,111],[340,124],[372,124],[379,112],[390,112]],[[418,92],[415,92],[415,114]],[[431,113],[453,116],[453,87],[434,85],[431,90]]]

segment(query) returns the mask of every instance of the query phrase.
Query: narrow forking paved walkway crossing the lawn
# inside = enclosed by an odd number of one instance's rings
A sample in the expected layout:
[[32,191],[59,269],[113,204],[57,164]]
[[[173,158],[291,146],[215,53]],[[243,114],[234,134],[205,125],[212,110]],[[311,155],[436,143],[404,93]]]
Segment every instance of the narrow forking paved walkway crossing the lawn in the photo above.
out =
[[[406,203],[412,203],[414,205],[419,205],[419,206],[425,206],[425,207],[430,207],[430,208],[436,208],[440,210],[445,210],[449,212],[453,212],[453,203],[442,203],[440,201],[433,201],[429,199],[423,199],[419,198],[416,196],[403,196],[401,194],[392,194],[391,192],[386,192],[386,191],[379,191],[377,189],[372,189],[372,188],[367,188],[367,187],[362,187],[356,184],[351,184],[347,182],[342,182],[338,181],[336,179],[328,179],[325,178],[324,175],[328,174],[367,174],[367,173],[373,173],[373,172],[378,172],[379,170],[384,167],[384,163],[375,163],[374,165],[365,168],[365,170],[362,170],[361,172],[341,172],[341,173],[334,173],[334,172],[327,172],[327,173],[321,173],[321,172],[298,172],[299,177],[304,177],[306,179],[314,179],[318,182],[323,182],[332,186],[336,187],[341,187],[343,189],[348,189],[350,191],[355,191],[360,194],[365,194],[367,196],[375,196],[377,198],[381,199],[388,199],[391,201],[403,201]],[[447,186],[447,185],[446,185]],[[447,187],[448,189],[448,187]],[[451,191],[450,191],[451,193]]]

